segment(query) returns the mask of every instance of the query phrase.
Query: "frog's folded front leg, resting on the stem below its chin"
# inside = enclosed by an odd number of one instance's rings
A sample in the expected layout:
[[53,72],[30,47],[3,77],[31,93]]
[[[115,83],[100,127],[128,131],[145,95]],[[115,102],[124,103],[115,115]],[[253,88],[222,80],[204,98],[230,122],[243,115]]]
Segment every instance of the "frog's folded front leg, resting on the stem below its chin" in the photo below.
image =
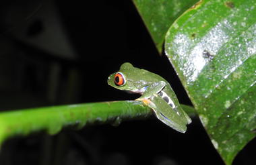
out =
[[143,101],[144,99],[149,99],[150,97],[153,97],[154,95],[157,95],[162,89],[165,87],[166,83],[164,81],[159,81],[156,83],[151,83],[148,85],[146,91],[144,91],[136,101]]

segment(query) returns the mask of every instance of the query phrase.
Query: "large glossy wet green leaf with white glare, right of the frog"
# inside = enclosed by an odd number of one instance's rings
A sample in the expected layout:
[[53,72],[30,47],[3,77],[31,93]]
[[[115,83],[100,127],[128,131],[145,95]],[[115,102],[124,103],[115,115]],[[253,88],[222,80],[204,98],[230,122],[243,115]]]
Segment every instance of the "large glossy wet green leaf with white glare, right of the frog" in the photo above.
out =
[[255,5],[200,1],[166,34],[166,55],[226,164],[255,137]]

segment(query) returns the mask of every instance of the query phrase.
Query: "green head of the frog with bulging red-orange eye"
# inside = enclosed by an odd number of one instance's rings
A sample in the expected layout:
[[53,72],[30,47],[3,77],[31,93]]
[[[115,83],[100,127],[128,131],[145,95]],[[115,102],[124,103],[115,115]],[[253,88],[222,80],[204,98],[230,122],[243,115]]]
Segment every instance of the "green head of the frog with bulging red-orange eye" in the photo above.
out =
[[133,76],[135,76],[135,70],[137,69],[129,62],[125,62],[121,65],[118,72],[108,76],[108,85],[127,92],[135,91],[136,87],[133,85]]

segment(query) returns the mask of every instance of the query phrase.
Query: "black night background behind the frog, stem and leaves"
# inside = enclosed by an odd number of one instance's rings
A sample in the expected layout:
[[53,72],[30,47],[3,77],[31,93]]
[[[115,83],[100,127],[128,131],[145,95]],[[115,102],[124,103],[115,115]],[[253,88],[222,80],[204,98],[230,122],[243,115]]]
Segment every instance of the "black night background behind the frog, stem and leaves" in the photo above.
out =
[[[131,0],[1,1],[0,109],[135,99],[108,87],[123,62],[160,74],[191,105],[170,62],[158,54]],[[234,164],[255,164],[255,140]],[[224,164],[199,119],[187,133],[155,117],[3,145],[0,164]]]

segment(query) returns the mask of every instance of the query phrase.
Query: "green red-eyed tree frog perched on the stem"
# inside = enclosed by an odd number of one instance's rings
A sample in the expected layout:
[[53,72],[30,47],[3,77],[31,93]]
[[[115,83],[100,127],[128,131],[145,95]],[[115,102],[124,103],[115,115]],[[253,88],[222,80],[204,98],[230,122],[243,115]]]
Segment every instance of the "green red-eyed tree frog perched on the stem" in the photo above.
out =
[[185,133],[187,124],[191,123],[170,84],[158,74],[125,62],[118,72],[108,76],[108,85],[128,93],[141,94],[136,101],[142,101],[153,109],[160,121],[179,132]]

